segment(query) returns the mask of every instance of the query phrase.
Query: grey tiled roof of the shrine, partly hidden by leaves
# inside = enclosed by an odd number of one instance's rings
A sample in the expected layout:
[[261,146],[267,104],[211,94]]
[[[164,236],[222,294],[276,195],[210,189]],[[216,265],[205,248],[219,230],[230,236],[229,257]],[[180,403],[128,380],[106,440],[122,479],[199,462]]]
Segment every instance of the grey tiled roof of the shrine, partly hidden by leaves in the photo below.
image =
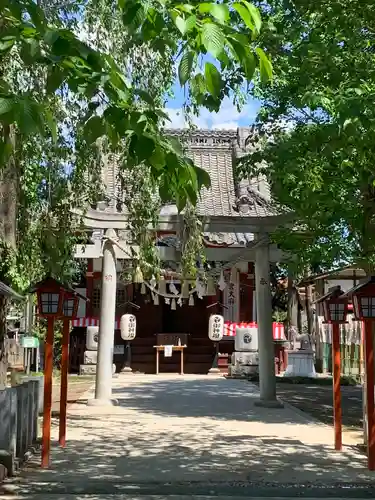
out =
[[[178,137],[186,153],[211,178],[211,188],[203,189],[197,205],[201,216],[268,217],[277,214],[272,205],[269,187],[264,179],[234,180],[236,159],[256,147],[255,128],[237,130],[168,130]],[[107,186],[109,205],[105,211],[116,210],[116,161],[107,162],[103,181]],[[172,207],[170,207],[172,208]],[[169,210],[166,206],[162,212]],[[246,246],[254,240],[252,233],[206,233],[208,243]]]

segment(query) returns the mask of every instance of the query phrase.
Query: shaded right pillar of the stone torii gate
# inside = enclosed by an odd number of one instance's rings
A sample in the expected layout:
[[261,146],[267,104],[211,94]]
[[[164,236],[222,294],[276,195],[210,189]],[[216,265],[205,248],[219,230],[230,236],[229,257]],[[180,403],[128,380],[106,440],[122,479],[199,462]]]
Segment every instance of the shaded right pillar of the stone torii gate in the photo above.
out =
[[255,254],[255,293],[259,346],[259,388],[257,406],[282,408],[276,398],[275,351],[272,331],[272,295],[270,287],[270,249],[268,238]]

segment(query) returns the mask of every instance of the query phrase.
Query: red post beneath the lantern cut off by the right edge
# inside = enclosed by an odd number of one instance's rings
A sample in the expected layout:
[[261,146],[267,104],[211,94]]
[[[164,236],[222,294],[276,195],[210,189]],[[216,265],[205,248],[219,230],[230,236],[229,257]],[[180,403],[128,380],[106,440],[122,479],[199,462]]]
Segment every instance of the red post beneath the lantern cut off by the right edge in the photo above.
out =
[[364,320],[367,406],[367,461],[368,469],[375,470],[375,410],[374,410],[374,342],[372,321]]

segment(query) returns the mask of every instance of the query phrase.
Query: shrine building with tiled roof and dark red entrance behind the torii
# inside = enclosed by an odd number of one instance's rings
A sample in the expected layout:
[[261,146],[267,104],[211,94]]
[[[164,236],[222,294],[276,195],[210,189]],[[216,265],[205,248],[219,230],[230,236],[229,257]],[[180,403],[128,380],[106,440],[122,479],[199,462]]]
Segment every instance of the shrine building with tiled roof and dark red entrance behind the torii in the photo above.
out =
[[[117,211],[117,172],[115,162],[106,162],[103,183],[107,202],[90,208],[85,228],[90,238],[86,246],[77,246],[76,258],[86,259],[87,272],[77,291],[89,300],[81,301],[78,318],[73,321],[70,346],[70,370],[79,372],[87,364],[86,332],[100,322],[102,298],[103,241],[110,233],[116,265],[114,363],[120,371],[125,362],[125,342],[121,339],[119,320],[124,313],[137,319],[137,335],[132,341],[133,372],[155,373],[155,345],[163,335],[165,342],[183,339],[185,373],[207,373],[212,365],[214,347],[208,338],[208,320],[212,313],[225,319],[225,336],[219,345],[219,366],[226,371],[228,357],[234,349],[237,326],[257,322],[255,261],[264,269],[272,262],[288,258],[269,243],[268,234],[284,223],[284,214],[277,212],[270,199],[269,187],[263,178],[236,180],[236,160],[255,147],[256,129],[238,130],[174,130],[183,137],[189,156],[210,175],[211,188],[203,189],[197,206],[198,215],[206,221],[204,247],[208,282],[201,290],[190,283],[183,294],[176,276],[181,258],[178,227],[180,215],[175,206],[166,204],[155,228],[155,245],[163,268],[170,272],[165,283],[126,283],[121,272],[129,259],[123,250],[126,241],[126,214]],[[242,230],[243,228],[243,230]],[[251,229],[251,231],[249,230]],[[262,248],[264,252],[260,251]],[[265,267],[264,267],[265,266]],[[266,271],[267,274],[267,271]],[[258,309],[259,311],[259,309]],[[285,340],[282,325],[273,324],[275,355]],[[160,361],[161,372],[178,372],[178,353]],[[276,368],[277,369],[277,368]]]

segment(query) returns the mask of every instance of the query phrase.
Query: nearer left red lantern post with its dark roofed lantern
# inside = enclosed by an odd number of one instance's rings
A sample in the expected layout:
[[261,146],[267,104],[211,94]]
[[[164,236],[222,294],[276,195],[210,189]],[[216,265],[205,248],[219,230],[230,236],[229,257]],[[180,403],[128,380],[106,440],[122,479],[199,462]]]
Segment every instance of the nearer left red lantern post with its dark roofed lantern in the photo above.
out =
[[37,283],[31,291],[37,294],[39,316],[47,319],[47,336],[44,342],[42,467],[49,467],[51,450],[54,323],[55,319],[62,314],[65,292],[64,287],[53,278],[47,278]]

